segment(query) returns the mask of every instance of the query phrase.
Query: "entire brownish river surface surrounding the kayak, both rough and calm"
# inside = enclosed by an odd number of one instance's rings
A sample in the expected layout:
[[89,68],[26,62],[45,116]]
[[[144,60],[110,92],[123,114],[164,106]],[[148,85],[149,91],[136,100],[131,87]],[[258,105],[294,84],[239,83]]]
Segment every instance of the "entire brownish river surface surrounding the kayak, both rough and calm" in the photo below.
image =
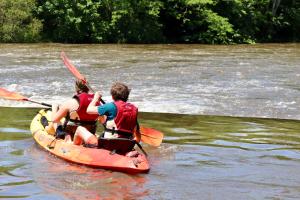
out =
[[141,123],[164,141],[144,144],[148,174],[91,169],[34,143],[38,108],[28,107],[38,105],[0,100],[0,198],[299,198],[299,44],[1,44],[0,87],[68,99],[75,79],[62,50],[104,100],[112,82],[127,83]]

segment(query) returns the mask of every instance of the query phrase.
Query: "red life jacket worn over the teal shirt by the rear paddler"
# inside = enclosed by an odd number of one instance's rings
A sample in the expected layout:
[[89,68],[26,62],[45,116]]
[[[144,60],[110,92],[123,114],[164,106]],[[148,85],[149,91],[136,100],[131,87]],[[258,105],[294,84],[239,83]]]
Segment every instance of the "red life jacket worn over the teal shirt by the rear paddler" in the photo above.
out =
[[114,119],[118,129],[117,132],[132,134],[137,125],[137,107],[124,101],[115,101],[114,104],[117,107],[117,116]]

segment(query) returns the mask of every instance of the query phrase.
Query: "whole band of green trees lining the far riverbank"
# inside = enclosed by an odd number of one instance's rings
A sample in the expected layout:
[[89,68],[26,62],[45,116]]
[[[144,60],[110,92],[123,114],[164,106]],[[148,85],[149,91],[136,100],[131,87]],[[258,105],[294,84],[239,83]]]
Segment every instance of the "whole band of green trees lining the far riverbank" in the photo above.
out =
[[0,0],[0,42],[299,42],[298,0]]

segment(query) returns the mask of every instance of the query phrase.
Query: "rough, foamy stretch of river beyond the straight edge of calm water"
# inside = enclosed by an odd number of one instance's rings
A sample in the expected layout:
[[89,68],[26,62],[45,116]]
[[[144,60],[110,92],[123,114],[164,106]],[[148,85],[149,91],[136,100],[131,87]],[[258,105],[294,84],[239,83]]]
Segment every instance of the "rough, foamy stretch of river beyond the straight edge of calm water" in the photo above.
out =
[[[143,112],[300,116],[300,60],[291,51],[294,46],[277,46],[280,54],[272,53],[272,46],[55,47],[25,45],[16,49],[10,45],[1,49],[0,87],[49,104],[71,98],[75,78],[57,49],[65,47],[72,63],[96,91],[103,92],[107,102],[111,101],[111,83],[121,81],[132,88],[129,101]],[[0,106],[39,106],[2,102]]]

